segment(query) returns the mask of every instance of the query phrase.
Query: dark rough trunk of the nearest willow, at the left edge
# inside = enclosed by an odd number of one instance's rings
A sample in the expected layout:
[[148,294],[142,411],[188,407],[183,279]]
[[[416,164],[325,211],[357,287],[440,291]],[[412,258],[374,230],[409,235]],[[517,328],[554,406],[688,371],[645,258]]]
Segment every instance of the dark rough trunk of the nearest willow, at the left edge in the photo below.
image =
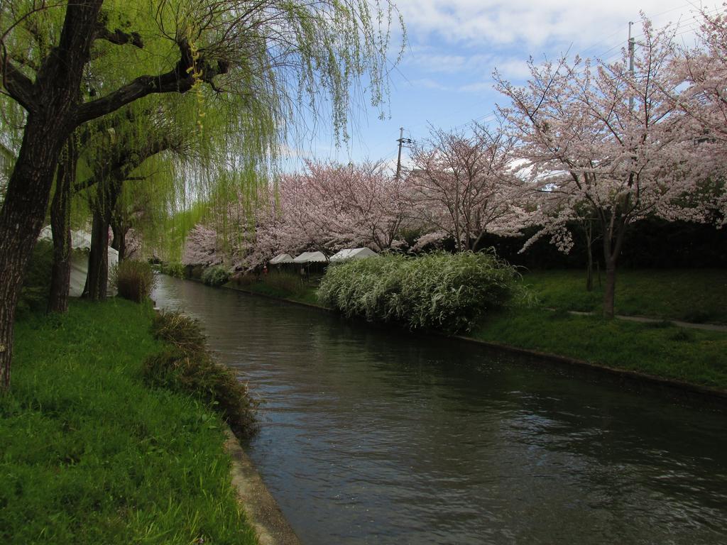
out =
[[35,81],[3,66],[4,91],[28,110],[23,143],[0,211],[0,389],[10,386],[12,331],[20,286],[40,233],[63,143],[78,124],[79,90],[101,0],[69,2],[58,46]]

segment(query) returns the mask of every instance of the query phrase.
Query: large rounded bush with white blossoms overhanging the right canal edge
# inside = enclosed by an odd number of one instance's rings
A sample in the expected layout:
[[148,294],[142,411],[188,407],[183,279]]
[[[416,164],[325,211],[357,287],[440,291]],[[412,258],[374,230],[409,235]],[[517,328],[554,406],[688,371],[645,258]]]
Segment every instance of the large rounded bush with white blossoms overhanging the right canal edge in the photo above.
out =
[[493,254],[389,254],[329,267],[318,298],[347,316],[469,331],[515,294],[518,273]]

